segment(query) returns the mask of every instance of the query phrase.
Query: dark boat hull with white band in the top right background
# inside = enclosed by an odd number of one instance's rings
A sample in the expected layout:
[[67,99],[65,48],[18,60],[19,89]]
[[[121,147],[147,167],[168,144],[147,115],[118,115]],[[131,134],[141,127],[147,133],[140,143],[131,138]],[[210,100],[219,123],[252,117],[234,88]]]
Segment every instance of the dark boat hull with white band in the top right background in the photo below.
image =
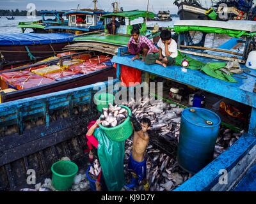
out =
[[[180,20],[196,20],[205,17],[208,10],[197,0],[176,0],[174,3],[178,7]],[[207,19],[205,17],[205,19]]]

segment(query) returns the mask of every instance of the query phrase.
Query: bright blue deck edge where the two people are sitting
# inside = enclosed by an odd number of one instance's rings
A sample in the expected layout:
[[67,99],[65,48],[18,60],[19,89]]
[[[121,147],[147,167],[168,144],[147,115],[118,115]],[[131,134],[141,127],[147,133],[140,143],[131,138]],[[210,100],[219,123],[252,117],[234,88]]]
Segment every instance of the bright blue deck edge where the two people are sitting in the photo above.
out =
[[[187,71],[184,72],[180,66],[167,66],[166,68],[163,68],[163,66],[158,64],[147,65],[139,60],[131,61],[132,57],[133,55],[114,56],[112,62],[131,66],[132,68],[140,69],[141,71],[147,71],[152,75],[169,78],[176,82],[191,85],[198,89],[256,107],[256,94],[253,92],[255,84],[254,77],[248,75],[247,79],[236,78],[237,83],[230,83],[205,75],[205,73],[198,70],[187,69]],[[194,56],[193,58],[199,59]],[[201,57],[200,61],[212,62],[213,60]],[[251,73],[256,75],[256,70],[252,69]]]

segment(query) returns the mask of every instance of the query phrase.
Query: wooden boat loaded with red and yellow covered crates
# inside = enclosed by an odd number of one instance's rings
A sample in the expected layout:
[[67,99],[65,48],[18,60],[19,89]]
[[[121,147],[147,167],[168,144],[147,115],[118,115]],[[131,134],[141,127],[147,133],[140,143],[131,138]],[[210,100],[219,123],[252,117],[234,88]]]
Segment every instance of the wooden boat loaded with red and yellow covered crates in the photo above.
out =
[[88,53],[60,53],[58,57],[35,64],[0,71],[1,103],[104,82],[108,77],[115,77],[115,69],[109,62],[111,57]]

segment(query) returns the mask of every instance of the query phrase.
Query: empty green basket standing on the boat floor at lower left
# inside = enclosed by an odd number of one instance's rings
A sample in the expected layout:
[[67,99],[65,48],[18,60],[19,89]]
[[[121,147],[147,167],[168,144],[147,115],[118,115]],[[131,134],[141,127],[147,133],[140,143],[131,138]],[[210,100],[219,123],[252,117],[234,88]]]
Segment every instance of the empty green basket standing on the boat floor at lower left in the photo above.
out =
[[58,161],[52,164],[52,185],[58,191],[65,191],[72,187],[78,166],[72,161]]

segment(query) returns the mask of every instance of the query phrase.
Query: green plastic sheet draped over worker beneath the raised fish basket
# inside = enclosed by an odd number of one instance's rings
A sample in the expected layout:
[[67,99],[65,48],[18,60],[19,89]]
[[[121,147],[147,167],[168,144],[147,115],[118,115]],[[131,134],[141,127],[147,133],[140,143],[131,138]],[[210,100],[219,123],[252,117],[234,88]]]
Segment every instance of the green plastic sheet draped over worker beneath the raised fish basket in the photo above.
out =
[[98,157],[108,191],[120,191],[124,187],[125,142],[110,140],[100,128],[95,129],[93,136],[99,142]]

